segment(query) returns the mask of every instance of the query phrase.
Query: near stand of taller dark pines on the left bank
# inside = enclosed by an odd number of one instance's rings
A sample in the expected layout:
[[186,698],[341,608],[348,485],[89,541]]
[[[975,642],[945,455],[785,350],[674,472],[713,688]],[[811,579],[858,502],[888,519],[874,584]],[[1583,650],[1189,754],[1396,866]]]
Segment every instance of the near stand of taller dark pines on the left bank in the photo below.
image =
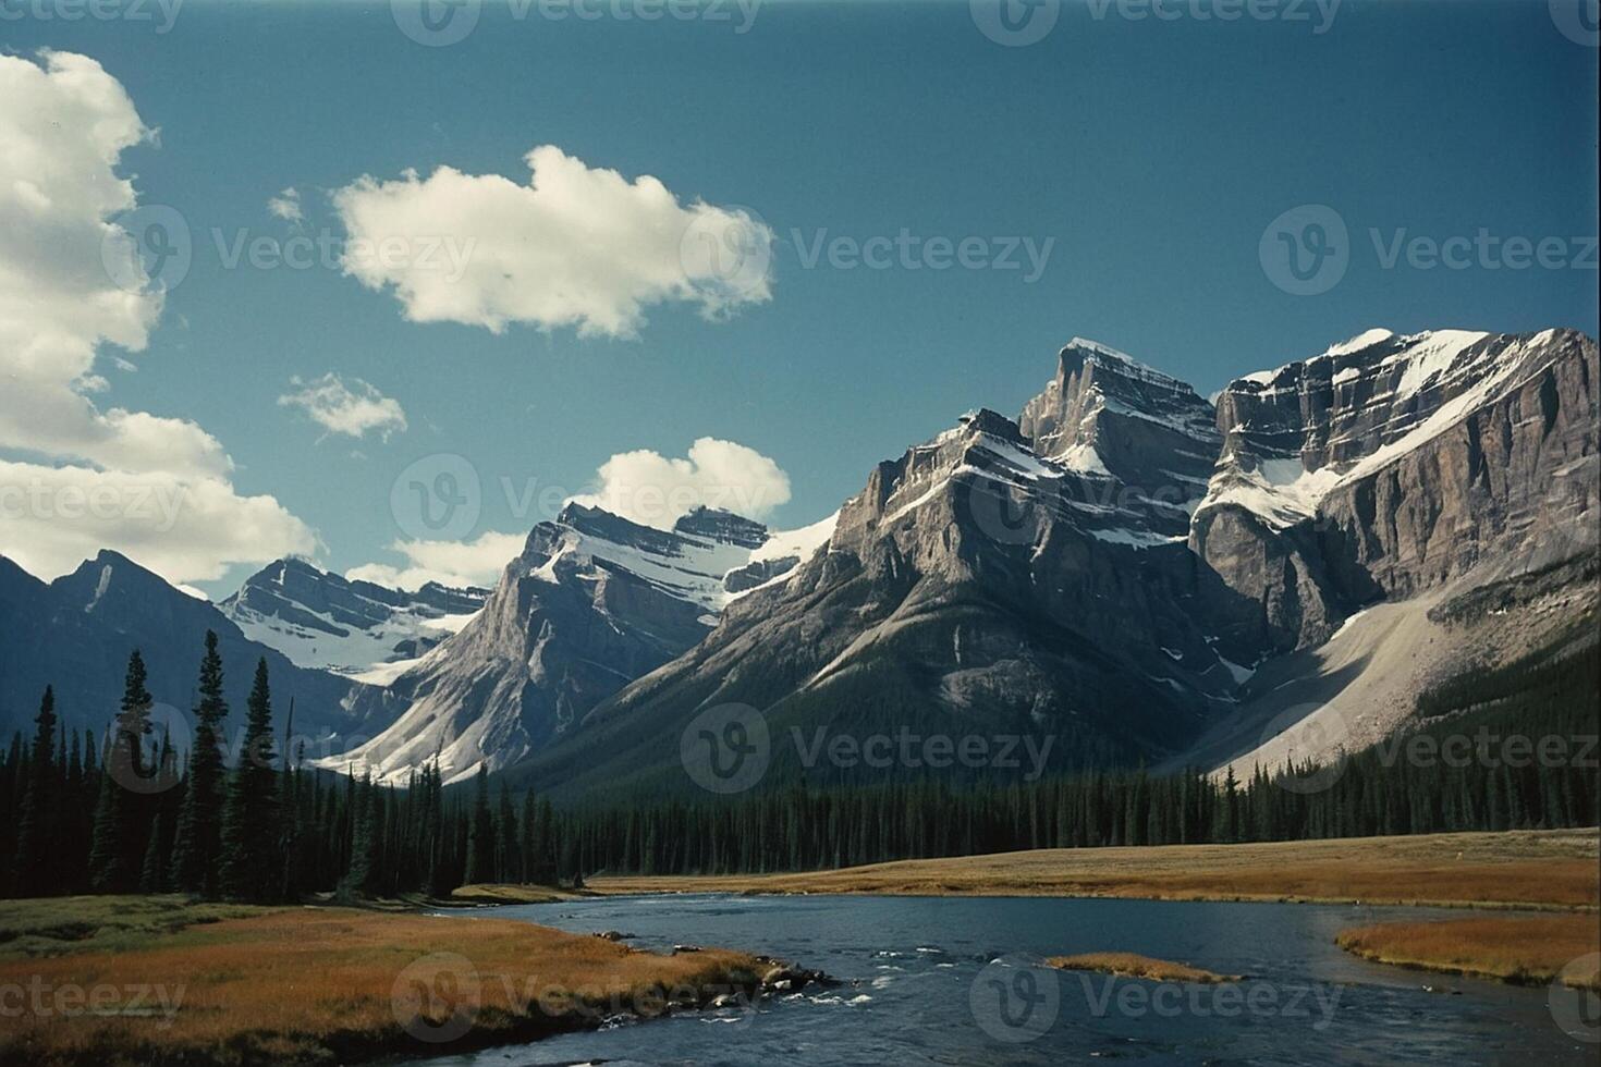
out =
[[[67,731],[45,689],[30,739],[0,757],[5,896],[189,893],[250,902],[424,893],[464,881],[554,881],[554,809],[533,793],[512,811],[488,782],[447,798],[435,766],[403,789],[320,771],[274,739],[266,661],[256,664],[239,758],[226,766],[223,661],[208,633],[194,737],[155,736],[144,661],[128,659],[120,710],[104,737]],[[285,718],[285,744],[291,734]]]

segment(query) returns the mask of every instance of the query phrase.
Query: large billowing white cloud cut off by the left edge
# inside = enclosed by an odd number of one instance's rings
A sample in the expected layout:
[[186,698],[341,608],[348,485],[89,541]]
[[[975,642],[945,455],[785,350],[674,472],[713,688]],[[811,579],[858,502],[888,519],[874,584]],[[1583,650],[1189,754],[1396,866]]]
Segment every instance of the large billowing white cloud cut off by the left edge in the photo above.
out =
[[202,427],[90,398],[109,389],[99,349],[144,350],[165,302],[118,222],[138,208],[122,152],[150,138],[93,59],[0,54],[0,552],[42,577],[102,547],[171,581],[315,547],[277,501],[234,491]]

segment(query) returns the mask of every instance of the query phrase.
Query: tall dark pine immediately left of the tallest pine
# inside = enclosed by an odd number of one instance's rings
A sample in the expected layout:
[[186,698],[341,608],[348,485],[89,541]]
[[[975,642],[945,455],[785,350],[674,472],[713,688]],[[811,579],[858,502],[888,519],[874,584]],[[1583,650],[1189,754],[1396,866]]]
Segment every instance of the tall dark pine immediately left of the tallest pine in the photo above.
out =
[[144,737],[150,733],[150,699],[144,657],[128,656],[122,710],[106,747],[104,774],[94,808],[94,840],[90,846],[90,885],[98,893],[126,893],[139,875],[144,856],[141,825],[146,805],[134,792],[144,779]]

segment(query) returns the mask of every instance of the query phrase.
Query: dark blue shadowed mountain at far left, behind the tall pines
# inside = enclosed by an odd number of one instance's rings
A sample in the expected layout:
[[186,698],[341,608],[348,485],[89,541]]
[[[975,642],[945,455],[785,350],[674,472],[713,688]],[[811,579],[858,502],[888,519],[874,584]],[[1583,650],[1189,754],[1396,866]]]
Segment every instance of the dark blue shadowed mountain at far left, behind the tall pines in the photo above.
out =
[[283,728],[293,699],[295,733],[315,739],[307,742],[307,755],[338,752],[352,737],[387,725],[351,710],[349,680],[296,667],[277,649],[247,638],[215,605],[115,552],[101,552],[53,582],[0,558],[0,725],[8,731],[26,729],[46,685],[56,688],[56,712],[67,726],[102,729],[117,712],[134,648],[149,669],[152,696],[187,713],[207,630],[219,638],[232,726],[243,723],[245,696],[261,657],[272,678],[277,728]]

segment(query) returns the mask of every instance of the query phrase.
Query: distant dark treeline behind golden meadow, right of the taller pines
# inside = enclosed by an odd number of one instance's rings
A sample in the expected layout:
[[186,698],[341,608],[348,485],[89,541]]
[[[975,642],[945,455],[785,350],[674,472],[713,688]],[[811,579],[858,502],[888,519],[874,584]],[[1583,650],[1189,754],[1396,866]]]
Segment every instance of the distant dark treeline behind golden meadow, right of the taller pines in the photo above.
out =
[[1327,765],[1222,781],[1092,773],[948,789],[922,779],[736,801],[586,806],[581,870],[807,870],[1028,848],[1196,845],[1601,824],[1601,649],[1470,672],[1417,697],[1412,733]]

